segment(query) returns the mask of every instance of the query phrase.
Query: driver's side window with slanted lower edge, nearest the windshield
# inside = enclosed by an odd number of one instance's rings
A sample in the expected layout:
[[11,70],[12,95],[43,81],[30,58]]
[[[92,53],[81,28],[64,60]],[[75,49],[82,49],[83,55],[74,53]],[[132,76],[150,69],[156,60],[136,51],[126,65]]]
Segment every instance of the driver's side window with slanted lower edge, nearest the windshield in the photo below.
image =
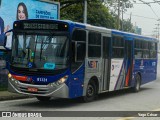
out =
[[76,71],[84,62],[86,56],[86,31],[75,30],[72,36],[71,71]]

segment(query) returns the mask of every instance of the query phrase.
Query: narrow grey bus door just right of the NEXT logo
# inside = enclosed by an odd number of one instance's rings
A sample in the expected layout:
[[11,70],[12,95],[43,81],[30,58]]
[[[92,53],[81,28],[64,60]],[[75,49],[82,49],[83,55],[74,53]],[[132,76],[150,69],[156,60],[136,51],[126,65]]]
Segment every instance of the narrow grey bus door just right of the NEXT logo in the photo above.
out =
[[111,68],[111,37],[102,36],[102,57],[103,57],[103,73],[102,73],[102,91],[109,90],[110,68]]

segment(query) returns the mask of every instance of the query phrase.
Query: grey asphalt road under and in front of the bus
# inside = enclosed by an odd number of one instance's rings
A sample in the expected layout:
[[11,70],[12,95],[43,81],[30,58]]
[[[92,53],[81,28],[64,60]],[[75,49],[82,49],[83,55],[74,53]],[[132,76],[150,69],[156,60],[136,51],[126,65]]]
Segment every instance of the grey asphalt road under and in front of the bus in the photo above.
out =
[[[158,69],[160,66],[158,66]],[[39,102],[35,98],[10,100],[0,102],[0,111],[160,111],[160,71],[156,81],[145,84],[138,93],[123,90],[101,94],[99,98],[90,103],[82,103],[78,99],[53,99],[49,102]],[[74,114],[74,113],[73,113]],[[12,118],[17,119],[17,118]],[[43,118],[45,119],[45,118]],[[53,119],[53,118],[47,118]],[[64,120],[63,117],[54,119]],[[83,120],[84,118],[66,118],[68,120]],[[130,118],[124,117],[86,117],[87,120],[159,120],[160,118]],[[33,119],[34,120],[34,119]]]

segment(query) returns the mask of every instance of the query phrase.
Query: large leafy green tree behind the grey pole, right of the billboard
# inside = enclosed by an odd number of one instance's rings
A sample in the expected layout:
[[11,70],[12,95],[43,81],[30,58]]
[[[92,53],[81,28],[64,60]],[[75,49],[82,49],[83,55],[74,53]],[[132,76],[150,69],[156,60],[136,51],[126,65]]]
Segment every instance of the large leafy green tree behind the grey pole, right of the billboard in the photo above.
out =
[[[115,20],[100,0],[87,0],[88,24],[115,28]],[[83,22],[84,0],[61,0],[61,19]]]

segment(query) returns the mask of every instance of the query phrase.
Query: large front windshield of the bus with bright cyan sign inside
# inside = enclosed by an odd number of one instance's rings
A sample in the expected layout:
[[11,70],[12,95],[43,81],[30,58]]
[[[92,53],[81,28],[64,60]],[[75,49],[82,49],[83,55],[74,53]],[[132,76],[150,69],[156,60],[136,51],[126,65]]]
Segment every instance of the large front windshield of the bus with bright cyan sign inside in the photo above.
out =
[[49,70],[67,67],[66,35],[14,35],[12,48],[15,67]]

